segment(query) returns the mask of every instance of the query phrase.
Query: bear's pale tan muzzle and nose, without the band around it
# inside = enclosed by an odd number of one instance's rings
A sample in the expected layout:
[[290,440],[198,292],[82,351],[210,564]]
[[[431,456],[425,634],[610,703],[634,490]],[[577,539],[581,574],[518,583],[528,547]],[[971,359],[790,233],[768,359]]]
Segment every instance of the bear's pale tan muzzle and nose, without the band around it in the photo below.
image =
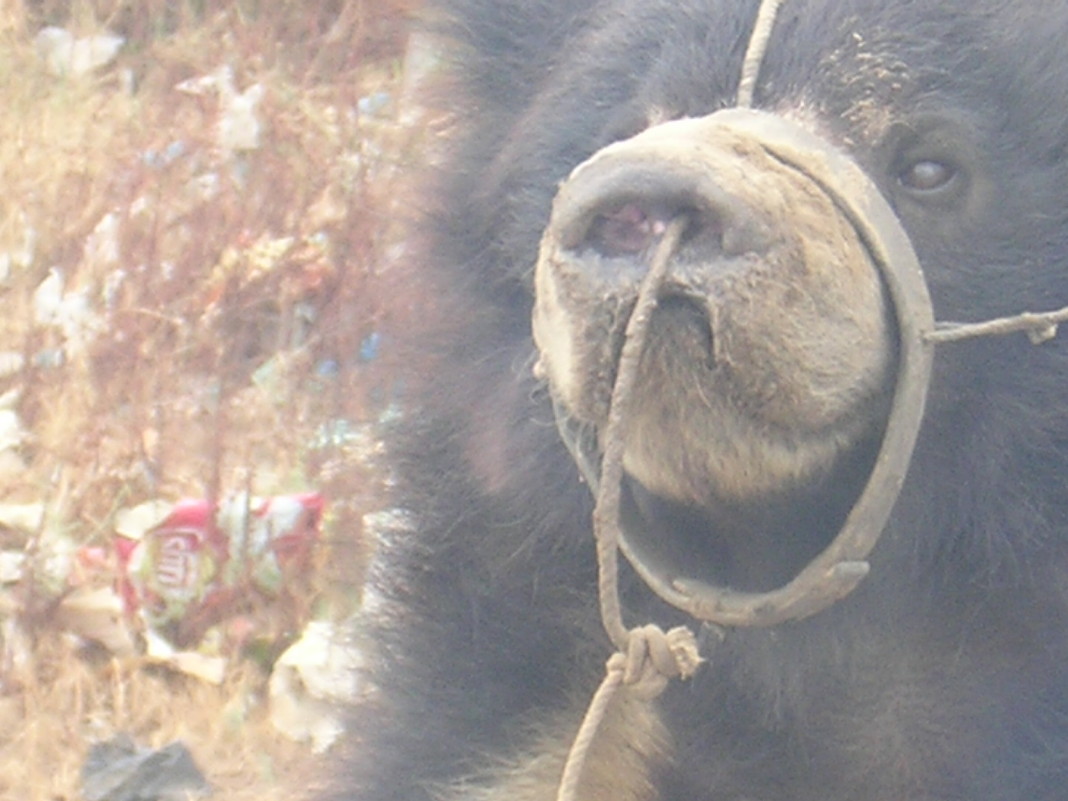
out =
[[870,438],[896,365],[864,241],[828,192],[734,131],[666,123],[580,166],[535,276],[545,377],[603,426],[627,318],[666,223],[686,216],[650,318],[625,465],[684,501],[824,475]]

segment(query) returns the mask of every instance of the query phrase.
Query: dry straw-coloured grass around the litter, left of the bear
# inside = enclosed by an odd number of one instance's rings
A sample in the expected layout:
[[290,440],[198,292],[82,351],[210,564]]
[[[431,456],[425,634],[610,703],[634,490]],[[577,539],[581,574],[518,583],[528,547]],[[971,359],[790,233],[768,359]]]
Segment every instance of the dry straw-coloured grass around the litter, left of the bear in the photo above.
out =
[[[46,507],[34,531],[0,528],[0,549],[107,548],[115,512],[147,499],[312,488],[330,502],[329,567],[266,633],[356,602],[377,486],[336,433],[388,393],[359,355],[382,325],[388,201],[415,146],[395,123],[412,5],[0,0],[0,408],[23,434],[0,451],[0,504]],[[44,25],[126,44],[104,70],[58,78],[34,50]],[[223,65],[238,91],[264,88],[247,152],[220,148],[216,97],[175,90]],[[215,688],[90,658],[54,610],[108,577],[32,578],[0,594],[0,799],[77,798],[89,743],[116,732],[184,739],[222,798],[314,787],[321,766],[265,721],[260,665]]]

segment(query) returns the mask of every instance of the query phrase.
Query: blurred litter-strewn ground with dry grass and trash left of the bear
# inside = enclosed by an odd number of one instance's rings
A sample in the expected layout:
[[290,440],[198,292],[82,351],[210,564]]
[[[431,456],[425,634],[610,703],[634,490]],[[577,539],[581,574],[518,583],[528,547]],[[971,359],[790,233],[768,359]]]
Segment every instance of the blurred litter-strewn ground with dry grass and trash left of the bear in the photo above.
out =
[[326,781],[403,525],[415,4],[0,0],[0,799],[125,797],[172,742],[194,792]]

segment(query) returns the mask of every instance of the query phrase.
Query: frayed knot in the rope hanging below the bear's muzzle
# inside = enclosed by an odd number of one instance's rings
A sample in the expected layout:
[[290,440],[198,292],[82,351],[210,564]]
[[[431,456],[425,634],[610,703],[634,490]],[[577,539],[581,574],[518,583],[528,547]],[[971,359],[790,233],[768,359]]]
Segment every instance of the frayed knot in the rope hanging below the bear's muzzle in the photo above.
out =
[[664,631],[649,624],[627,632],[627,643],[608,660],[609,673],[638,697],[651,701],[673,678],[690,678],[702,662],[697,640],[686,626]]

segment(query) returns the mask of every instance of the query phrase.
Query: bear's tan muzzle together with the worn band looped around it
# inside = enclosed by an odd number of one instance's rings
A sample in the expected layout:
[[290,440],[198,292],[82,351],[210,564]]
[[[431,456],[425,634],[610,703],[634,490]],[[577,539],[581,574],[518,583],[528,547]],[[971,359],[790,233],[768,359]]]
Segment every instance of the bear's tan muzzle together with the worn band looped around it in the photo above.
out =
[[[533,318],[539,368],[562,428],[584,431],[587,465],[640,283],[676,218],[686,227],[623,433],[624,550],[663,597],[712,617],[729,601],[694,600],[710,580],[770,596],[838,570],[854,585],[866,567],[838,551],[862,560],[885,522],[929,375],[908,237],[848,157],[765,112],[664,123],[596,153],[553,203]],[[909,414],[895,409],[902,395]],[[790,508],[826,537],[791,539]],[[874,535],[836,548],[854,523]]]

